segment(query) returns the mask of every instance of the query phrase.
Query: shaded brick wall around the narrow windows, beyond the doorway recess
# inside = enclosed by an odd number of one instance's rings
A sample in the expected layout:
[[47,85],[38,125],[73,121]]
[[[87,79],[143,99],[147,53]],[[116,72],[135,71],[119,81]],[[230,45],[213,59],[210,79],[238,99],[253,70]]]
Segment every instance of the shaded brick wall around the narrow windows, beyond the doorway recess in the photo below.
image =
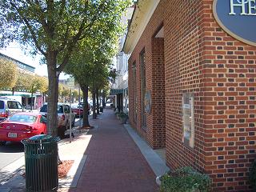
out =
[[[164,75],[164,44],[162,38],[154,38],[158,27],[162,25],[163,7],[159,7],[154,13],[154,17],[150,20],[150,25],[146,26],[142,38],[135,47],[133,54],[129,59],[129,93],[133,93],[133,73],[132,64],[136,62],[137,68],[137,121],[134,119],[135,96],[129,94],[129,118],[132,126],[138,130],[146,141],[155,148],[165,146],[165,75]],[[142,105],[141,105],[141,66],[139,54],[145,48],[146,53],[146,90],[150,90],[152,98],[152,110],[150,114],[146,114],[146,130],[142,129]]]

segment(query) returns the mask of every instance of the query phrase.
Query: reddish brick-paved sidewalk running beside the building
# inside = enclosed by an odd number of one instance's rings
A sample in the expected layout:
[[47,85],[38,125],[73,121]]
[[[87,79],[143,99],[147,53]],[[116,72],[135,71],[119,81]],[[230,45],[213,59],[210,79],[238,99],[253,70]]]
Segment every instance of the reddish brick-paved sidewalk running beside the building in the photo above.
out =
[[78,186],[66,191],[158,191],[156,176],[113,110],[104,110],[101,118],[96,120],[98,129],[89,132],[92,138]]

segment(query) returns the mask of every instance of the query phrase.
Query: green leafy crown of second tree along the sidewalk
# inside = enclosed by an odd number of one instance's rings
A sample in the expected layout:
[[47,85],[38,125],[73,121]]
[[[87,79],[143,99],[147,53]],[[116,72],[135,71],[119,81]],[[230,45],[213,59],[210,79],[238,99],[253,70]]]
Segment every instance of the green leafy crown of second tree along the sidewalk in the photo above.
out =
[[65,72],[74,76],[81,86],[103,89],[108,85],[112,58],[123,32],[121,16],[128,4],[129,1],[105,2],[104,11],[90,28],[90,34],[76,46]]

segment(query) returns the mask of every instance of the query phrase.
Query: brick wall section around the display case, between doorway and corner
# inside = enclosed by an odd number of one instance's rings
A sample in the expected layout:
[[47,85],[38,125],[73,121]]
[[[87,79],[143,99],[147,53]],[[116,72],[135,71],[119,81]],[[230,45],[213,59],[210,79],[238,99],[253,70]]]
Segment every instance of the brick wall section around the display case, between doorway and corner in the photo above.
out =
[[[204,171],[202,1],[165,2],[166,162]],[[182,143],[182,94],[194,93],[194,149]]]

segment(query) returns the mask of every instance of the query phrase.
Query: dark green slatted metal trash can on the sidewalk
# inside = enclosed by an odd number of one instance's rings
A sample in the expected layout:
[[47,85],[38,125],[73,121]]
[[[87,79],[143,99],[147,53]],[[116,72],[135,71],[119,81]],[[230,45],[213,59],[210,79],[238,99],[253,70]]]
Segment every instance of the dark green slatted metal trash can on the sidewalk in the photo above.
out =
[[46,134],[23,139],[25,148],[26,190],[58,190],[58,141]]

